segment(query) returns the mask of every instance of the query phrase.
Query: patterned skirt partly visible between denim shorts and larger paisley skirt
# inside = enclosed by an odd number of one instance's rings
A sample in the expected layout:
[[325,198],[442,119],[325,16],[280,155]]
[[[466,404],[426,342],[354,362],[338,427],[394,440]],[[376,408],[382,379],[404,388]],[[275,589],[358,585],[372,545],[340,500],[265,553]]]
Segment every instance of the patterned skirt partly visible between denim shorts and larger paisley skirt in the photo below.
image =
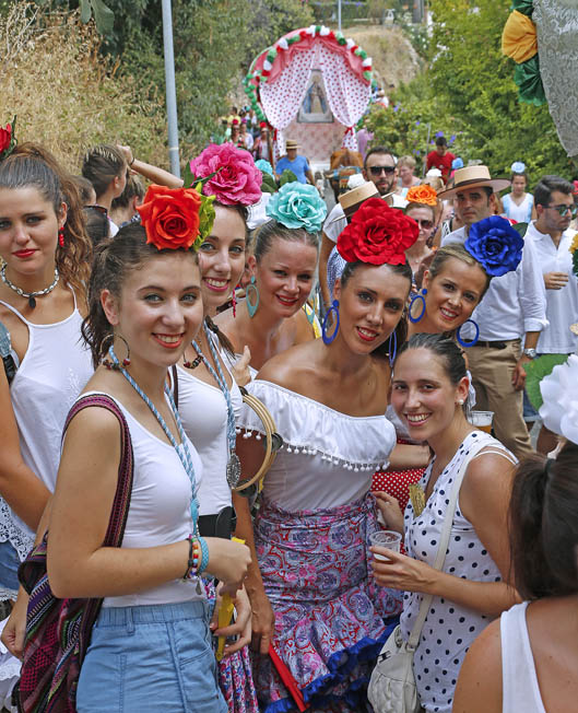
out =
[[[203,584],[212,608],[215,601],[214,581],[204,580]],[[216,651],[217,639],[213,638],[213,641]],[[229,713],[259,713],[248,646],[217,662],[216,676]]]

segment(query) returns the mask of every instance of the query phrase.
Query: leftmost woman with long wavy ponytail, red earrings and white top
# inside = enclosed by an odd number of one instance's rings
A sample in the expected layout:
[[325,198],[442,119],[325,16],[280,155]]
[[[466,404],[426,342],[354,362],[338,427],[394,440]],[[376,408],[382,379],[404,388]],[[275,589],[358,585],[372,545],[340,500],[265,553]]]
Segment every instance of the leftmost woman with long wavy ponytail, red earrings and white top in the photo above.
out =
[[54,491],[70,406],[92,374],[81,343],[91,244],[76,186],[43,148],[0,162],[0,323],[13,371],[0,369],[0,598]]

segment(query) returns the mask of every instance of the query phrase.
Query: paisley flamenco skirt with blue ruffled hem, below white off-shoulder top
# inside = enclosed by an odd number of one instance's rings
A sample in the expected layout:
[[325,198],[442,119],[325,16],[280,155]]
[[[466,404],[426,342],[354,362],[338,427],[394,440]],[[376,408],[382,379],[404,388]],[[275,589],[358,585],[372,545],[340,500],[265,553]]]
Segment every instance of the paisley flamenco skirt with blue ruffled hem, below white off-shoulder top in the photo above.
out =
[[[275,612],[273,646],[308,711],[366,710],[367,683],[397,622],[402,593],[376,585],[368,538],[379,528],[367,495],[337,509],[286,512],[264,501],[255,541]],[[253,656],[261,710],[297,710],[269,656]]]

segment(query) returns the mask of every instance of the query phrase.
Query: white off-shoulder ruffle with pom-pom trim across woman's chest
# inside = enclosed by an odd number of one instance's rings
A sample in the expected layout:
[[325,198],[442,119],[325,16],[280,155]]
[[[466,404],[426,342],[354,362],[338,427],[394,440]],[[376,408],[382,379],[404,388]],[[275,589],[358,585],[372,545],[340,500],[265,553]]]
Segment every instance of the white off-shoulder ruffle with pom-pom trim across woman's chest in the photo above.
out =
[[[396,444],[396,430],[385,416],[347,416],[262,379],[251,384],[251,394],[271,411],[276,431],[283,439],[282,448],[287,453],[320,453],[323,460],[344,464],[347,470],[355,472],[387,468],[389,454]],[[247,406],[244,406],[237,425],[244,437],[249,437],[253,431],[264,433],[259,417]],[[368,443],[376,444],[369,461]]]

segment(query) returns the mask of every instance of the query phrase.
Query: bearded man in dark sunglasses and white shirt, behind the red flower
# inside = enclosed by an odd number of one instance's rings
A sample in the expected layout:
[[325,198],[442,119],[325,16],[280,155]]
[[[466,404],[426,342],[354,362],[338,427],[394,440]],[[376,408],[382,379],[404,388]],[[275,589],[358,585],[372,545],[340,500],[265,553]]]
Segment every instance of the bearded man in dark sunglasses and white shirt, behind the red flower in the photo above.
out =
[[[375,147],[367,152],[363,162],[363,176],[371,180],[380,196],[385,196],[392,208],[405,208],[408,201],[393,191],[398,185],[398,160],[386,147]],[[335,203],[323,223],[321,233],[321,249],[319,250],[319,284],[326,308],[331,304],[331,295],[327,284],[327,261],[338,242],[339,234],[345,229],[347,221],[343,208]]]

